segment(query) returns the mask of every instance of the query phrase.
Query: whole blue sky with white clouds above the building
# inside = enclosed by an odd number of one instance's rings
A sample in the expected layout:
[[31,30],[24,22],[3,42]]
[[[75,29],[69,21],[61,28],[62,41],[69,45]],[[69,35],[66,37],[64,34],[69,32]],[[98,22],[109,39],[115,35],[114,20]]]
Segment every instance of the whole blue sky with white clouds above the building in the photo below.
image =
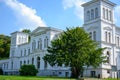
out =
[[[65,30],[83,25],[83,8],[90,0],[0,0],[0,34],[49,26]],[[115,7],[115,23],[120,26],[120,1]]]

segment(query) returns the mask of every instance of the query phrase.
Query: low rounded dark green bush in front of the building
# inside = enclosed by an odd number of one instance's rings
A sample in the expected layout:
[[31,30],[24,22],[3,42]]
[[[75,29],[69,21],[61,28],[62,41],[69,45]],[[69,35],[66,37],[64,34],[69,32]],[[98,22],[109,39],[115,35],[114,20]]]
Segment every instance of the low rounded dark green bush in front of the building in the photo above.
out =
[[22,65],[19,72],[21,76],[36,76],[38,70],[34,65]]

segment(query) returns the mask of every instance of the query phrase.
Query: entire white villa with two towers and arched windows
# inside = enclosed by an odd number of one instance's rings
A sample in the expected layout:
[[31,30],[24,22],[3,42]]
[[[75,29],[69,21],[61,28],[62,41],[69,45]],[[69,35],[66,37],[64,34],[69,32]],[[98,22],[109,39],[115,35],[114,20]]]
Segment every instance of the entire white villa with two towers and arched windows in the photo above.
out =
[[[85,68],[84,76],[100,76],[101,78],[120,77],[120,27],[114,23],[114,7],[109,0],[91,0],[84,7],[83,28],[91,38],[99,42],[100,47],[106,47],[103,52],[107,63],[97,69]],[[38,27],[31,34],[14,32],[11,34],[10,57],[0,61],[4,74],[18,74],[23,64],[34,64],[39,70],[37,75],[70,76],[69,67],[51,67],[42,57],[47,52],[47,46],[62,30],[50,27]]]

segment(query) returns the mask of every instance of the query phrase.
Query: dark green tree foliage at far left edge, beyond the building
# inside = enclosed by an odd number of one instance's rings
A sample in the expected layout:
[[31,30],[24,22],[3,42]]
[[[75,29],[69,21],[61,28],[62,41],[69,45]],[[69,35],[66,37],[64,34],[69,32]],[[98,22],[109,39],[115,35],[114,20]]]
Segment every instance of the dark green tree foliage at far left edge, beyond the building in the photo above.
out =
[[10,37],[0,34],[0,59],[8,58],[10,52]]

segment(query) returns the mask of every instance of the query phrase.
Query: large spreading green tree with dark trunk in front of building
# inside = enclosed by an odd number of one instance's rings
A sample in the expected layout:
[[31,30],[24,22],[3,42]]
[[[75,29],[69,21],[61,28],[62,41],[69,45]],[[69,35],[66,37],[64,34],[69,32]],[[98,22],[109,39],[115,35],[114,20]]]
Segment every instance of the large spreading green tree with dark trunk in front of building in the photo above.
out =
[[49,54],[43,59],[51,66],[70,66],[71,77],[78,78],[79,75],[83,75],[83,66],[97,67],[105,62],[103,50],[82,28],[67,28],[67,31],[51,42],[51,46],[48,47]]

